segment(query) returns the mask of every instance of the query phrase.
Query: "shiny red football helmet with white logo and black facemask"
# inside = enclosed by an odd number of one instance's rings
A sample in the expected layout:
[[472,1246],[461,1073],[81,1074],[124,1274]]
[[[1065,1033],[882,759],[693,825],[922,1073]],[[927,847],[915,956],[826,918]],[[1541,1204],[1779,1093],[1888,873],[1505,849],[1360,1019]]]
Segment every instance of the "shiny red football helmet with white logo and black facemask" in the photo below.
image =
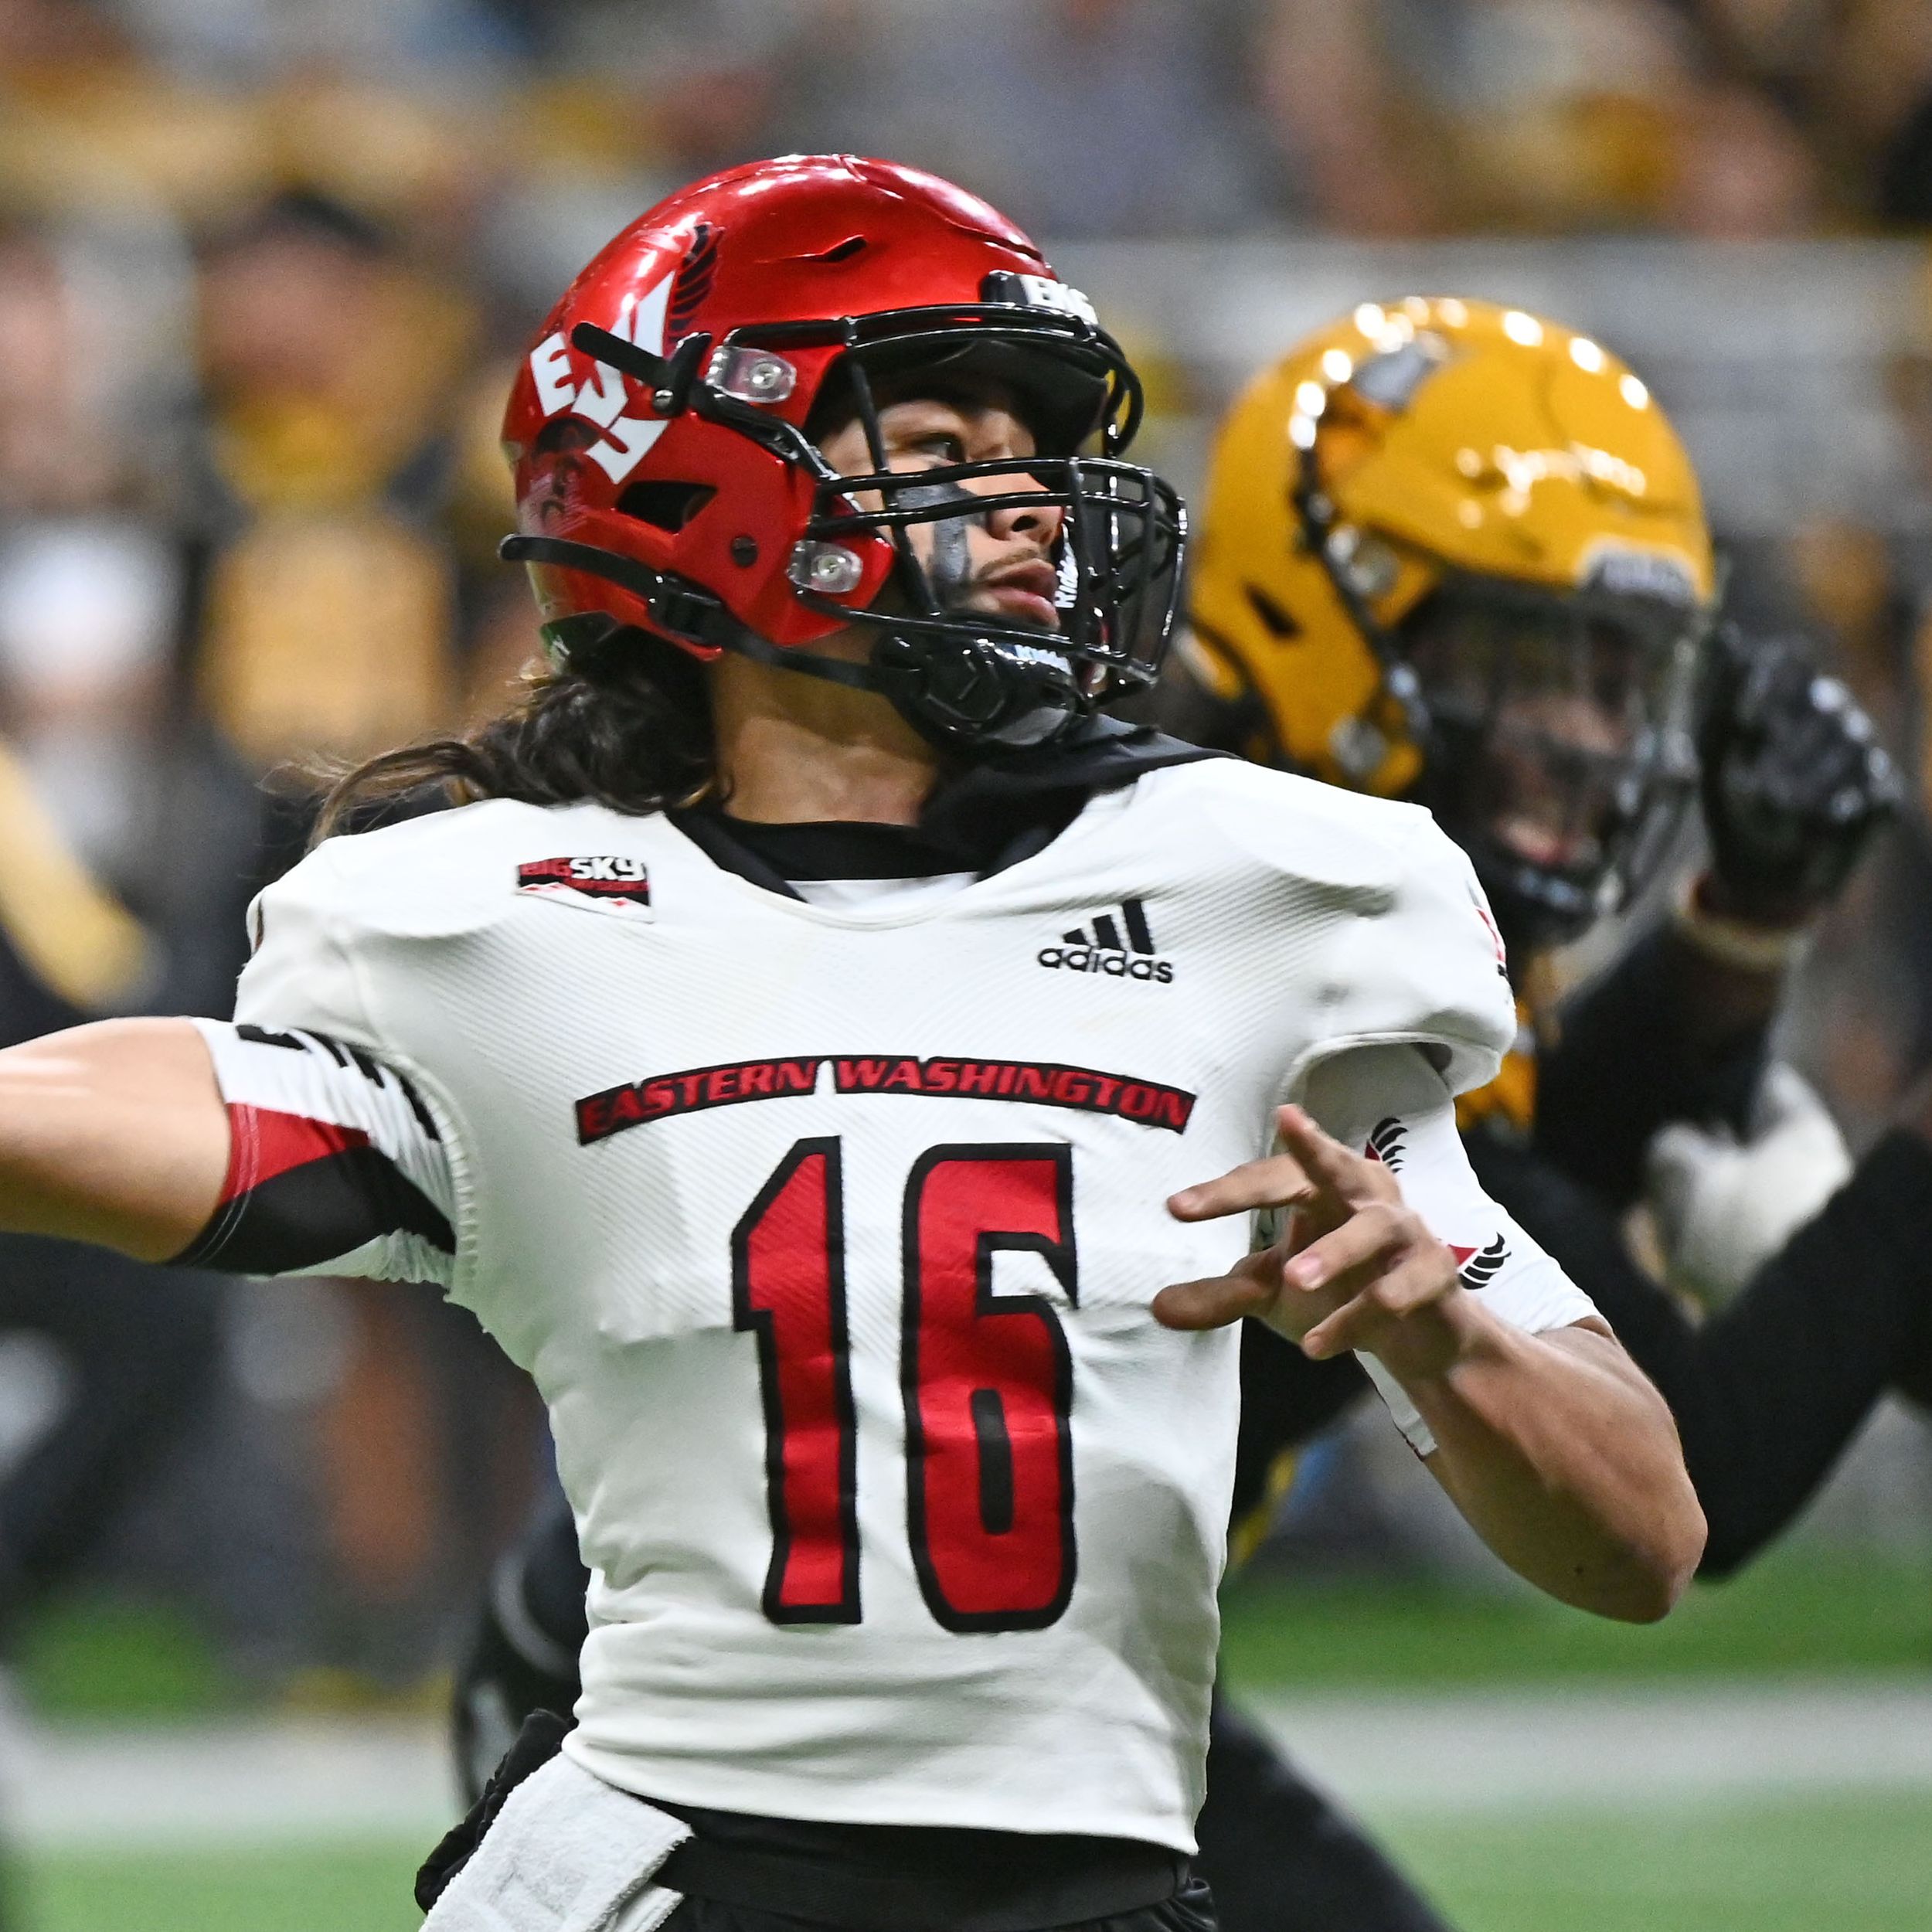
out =
[[[999,381],[1037,454],[889,473],[873,383],[925,371]],[[833,410],[875,473],[827,464]],[[881,690],[943,744],[1039,744],[1167,649],[1184,512],[1119,460],[1138,419],[1119,344],[983,201],[850,155],[755,162],[639,216],[551,311],[504,417],[502,554],[562,657],[634,626]],[[962,489],[997,475],[1016,489]],[[1059,628],[949,611],[908,527],[1028,506],[1063,510]],[[802,649],[850,624],[867,665]]]

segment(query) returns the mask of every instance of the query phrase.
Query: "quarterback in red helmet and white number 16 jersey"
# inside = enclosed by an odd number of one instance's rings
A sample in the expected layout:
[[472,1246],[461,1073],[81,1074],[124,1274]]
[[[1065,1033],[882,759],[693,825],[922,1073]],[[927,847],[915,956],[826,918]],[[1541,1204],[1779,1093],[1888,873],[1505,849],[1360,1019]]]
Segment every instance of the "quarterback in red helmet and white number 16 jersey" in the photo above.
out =
[[1455,1132],[1515,1024],[1466,860],[1095,709],[1175,599],[1138,410],[943,182],[670,197],[510,398],[553,670],[338,796],[471,802],[263,893],[236,1022],[0,1057],[0,1223],[437,1279],[549,1401],[578,1723],[431,1926],[1209,1924],[1244,1316],[1553,1594],[1696,1563],[1667,1410]]

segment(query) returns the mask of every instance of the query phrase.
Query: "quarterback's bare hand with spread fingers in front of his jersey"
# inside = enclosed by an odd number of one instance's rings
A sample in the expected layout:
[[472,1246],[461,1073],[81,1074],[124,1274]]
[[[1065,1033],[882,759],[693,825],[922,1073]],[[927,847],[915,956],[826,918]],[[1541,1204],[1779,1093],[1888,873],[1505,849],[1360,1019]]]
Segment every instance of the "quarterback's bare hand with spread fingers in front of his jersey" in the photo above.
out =
[[1403,1206],[1395,1175],[1300,1107],[1281,1107],[1275,1121],[1285,1151],[1182,1188],[1167,1208],[1177,1221],[1287,1209],[1281,1238],[1225,1275],[1161,1289],[1155,1320],[1202,1329],[1256,1316],[1316,1360],[1349,1349],[1453,1354],[1447,1323],[1430,1316],[1463,1293],[1455,1256]]

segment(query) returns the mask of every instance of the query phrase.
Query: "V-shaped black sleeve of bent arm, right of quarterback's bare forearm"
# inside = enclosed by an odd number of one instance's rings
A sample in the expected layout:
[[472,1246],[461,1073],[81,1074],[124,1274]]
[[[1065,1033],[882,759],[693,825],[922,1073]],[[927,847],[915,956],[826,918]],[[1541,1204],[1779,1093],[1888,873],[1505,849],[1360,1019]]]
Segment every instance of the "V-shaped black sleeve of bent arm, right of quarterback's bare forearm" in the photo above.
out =
[[1917,1134],[1882,1140],[1702,1325],[1573,1179],[1484,1134],[1468,1146],[1484,1188],[1561,1258],[1671,1405],[1710,1522],[1706,1577],[1797,1517],[1886,1385],[1932,1349],[1932,1148]]

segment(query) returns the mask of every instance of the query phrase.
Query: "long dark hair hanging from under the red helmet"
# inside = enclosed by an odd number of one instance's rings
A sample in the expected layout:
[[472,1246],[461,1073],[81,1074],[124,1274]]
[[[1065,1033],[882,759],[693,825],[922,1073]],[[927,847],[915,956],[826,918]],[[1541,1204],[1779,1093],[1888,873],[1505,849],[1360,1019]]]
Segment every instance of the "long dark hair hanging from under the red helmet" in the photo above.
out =
[[674,645],[609,626],[570,639],[524,697],[460,738],[381,752],[338,773],[311,844],[390,813],[479,798],[531,806],[595,800],[645,815],[696,804],[717,755],[703,672]]

